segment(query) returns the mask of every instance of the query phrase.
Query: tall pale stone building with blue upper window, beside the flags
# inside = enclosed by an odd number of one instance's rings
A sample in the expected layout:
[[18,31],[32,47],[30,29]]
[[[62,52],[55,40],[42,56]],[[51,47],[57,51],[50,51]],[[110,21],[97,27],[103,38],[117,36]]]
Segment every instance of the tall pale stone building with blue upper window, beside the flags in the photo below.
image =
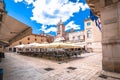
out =
[[96,26],[95,22],[90,19],[85,20],[84,25],[86,47],[91,49],[93,52],[102,52],[102,32]]

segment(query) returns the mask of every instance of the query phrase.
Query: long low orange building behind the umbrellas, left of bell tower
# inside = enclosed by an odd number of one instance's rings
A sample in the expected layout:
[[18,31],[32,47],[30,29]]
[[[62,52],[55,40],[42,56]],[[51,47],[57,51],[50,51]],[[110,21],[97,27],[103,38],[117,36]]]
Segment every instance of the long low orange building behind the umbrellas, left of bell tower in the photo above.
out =
[[25,36],[24,38],[13,42],[8,48],[8,51],[16,52],[16,48],[14,46],[21,45],[21,44],[30,44],[30,43],[44,43],[44,42],[51,42],[50,41],[51,36],[45,35],[45,34],[31,34],[28,36]]

